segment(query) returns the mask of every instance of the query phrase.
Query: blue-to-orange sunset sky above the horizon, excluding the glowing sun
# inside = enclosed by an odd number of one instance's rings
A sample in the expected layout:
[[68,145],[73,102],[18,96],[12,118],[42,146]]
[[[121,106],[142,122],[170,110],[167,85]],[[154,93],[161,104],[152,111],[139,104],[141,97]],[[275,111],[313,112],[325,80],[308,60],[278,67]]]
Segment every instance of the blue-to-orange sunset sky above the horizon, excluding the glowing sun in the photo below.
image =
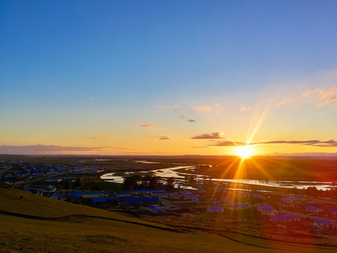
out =
[[337,153],[336,9],[0,0],[0,153]]

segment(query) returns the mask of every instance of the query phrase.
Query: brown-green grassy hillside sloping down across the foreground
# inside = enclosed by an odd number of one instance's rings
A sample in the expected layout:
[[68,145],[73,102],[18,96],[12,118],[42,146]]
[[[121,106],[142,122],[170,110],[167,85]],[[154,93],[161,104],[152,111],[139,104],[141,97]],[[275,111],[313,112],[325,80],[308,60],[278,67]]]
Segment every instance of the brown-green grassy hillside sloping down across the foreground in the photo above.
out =
[[0,188],[0,210],[0,252],[336,252],[182,230],[7,188]]

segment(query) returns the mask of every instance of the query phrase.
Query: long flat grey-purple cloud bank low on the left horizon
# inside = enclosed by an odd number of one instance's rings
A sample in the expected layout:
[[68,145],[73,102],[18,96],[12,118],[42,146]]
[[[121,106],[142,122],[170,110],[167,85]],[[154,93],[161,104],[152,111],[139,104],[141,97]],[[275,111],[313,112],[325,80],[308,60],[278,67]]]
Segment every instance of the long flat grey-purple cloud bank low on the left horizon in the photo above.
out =
[[2,145],[0,153],[2,154],[20,154],[20,155],[52,155],[61,153],[97,153],[107,151],[132,150],[128,147],[62,147],[60,145]]

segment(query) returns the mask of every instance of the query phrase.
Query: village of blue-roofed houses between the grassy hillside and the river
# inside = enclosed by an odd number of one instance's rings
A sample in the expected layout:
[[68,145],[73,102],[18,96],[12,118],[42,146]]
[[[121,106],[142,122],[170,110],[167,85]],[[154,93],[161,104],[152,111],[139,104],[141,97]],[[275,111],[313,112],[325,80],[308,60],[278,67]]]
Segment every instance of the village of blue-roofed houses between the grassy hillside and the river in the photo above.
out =
[[[79,188],[102,169],[77,164],[4,162],[5,186],[58,201],[126,212],[171,226],[232,231],[263,238],[336,246],[337,202],[271,191],[242,190],[232,184],[142,189]],[[72,183],[69,183],[72,182]],[[77,185],[78,184],[78,185]]]

